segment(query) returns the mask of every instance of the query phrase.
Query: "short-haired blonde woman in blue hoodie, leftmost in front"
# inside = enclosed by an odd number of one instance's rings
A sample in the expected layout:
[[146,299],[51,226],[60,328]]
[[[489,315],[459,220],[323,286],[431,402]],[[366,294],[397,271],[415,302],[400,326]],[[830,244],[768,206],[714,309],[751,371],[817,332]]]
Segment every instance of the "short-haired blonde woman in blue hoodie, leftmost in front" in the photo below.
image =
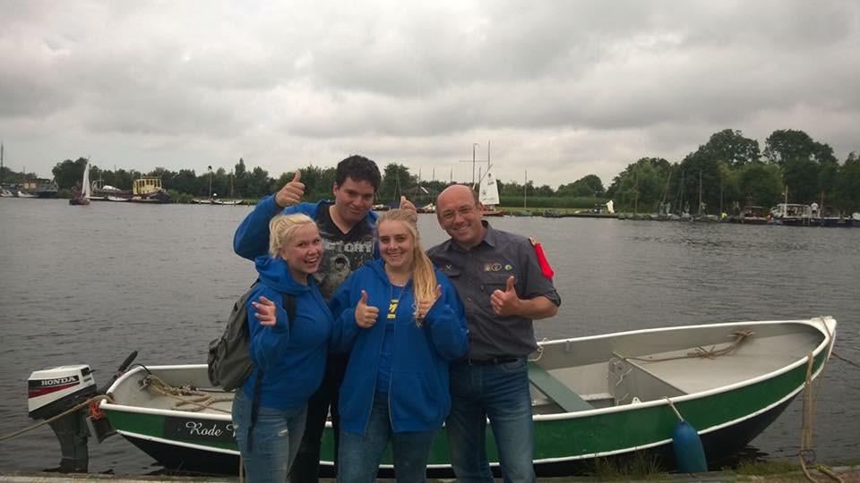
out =
[[[260,280],[248,297],[254,372],[233,402],[236,443],[252,483],[287,480],[307,400],[323,380],[334,322],[311,276],[323,255],[314,220],[275,216],[270,233],[269,254],[254,260]],[[296,302],[295,320],[288,320],[283,294]]]

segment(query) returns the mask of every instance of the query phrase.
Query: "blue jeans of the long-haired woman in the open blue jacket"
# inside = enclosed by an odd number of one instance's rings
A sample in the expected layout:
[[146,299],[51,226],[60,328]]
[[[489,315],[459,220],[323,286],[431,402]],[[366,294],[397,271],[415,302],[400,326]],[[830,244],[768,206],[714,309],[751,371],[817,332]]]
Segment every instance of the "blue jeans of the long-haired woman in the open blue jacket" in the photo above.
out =
[[389,441],[393,450],[394,476],[397,481],[426,481],[427,460],[430,458],[430,446],[433,445],[436,431],[395,433],[388,414],[388,394],[377,393],[364,435],[340,429],[338,483],[376,481],[376,471]]

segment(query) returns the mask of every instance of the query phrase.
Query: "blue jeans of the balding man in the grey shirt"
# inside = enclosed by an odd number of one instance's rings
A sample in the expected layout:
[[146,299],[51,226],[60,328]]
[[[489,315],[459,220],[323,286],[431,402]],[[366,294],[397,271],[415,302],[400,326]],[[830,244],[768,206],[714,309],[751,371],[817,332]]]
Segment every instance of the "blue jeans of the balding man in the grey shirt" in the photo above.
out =
[[448,445],[457,480],[493,481],[486,456],[486,419],[490,419],[505,482],[533,482],[534,424],[531,419],[526,358],[497,365],[451,365],[451,414]]

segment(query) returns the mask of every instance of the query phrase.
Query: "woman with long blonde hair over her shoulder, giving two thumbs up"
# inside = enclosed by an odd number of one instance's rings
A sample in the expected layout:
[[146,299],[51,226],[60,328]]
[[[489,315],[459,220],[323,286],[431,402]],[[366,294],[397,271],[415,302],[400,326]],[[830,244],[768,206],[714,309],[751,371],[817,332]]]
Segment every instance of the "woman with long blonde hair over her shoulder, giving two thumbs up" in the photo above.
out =
[[434,270],[415,214],[394,209],[376,225],[382,259],[354,272],[331,300],[351,349],[340,386],[340,483],[372,482],[391,442],[398,481],[426,480],[430,446],[451,410],[448,365],[469,349],[463,306]]

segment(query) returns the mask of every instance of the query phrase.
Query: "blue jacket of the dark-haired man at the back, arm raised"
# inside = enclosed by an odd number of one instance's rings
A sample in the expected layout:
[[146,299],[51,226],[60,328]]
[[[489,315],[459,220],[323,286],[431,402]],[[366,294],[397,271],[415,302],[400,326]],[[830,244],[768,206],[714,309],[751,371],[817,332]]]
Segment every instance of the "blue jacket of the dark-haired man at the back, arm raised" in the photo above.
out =
[[[323,207],[328,208],[333,201],[317,201],[316,203],[299,203],[287,208],[280,208],[275,203],[275,196],[270,195],[260,200],[254,210],[245,216],[242,224],[236,228],[236,233],[233,235],[233,250],[239,257],[253,260],[269,251],[269,221],[272,216],[283,213],[284,215],[292,215],[293,213],[304,213],[313,219],[316,219],[317,211]],[[374,211],[367,212],[365,221],[371,228],[376,226],[376,218],[378,216]],[[377,257],[378,254],[377,254]]]

